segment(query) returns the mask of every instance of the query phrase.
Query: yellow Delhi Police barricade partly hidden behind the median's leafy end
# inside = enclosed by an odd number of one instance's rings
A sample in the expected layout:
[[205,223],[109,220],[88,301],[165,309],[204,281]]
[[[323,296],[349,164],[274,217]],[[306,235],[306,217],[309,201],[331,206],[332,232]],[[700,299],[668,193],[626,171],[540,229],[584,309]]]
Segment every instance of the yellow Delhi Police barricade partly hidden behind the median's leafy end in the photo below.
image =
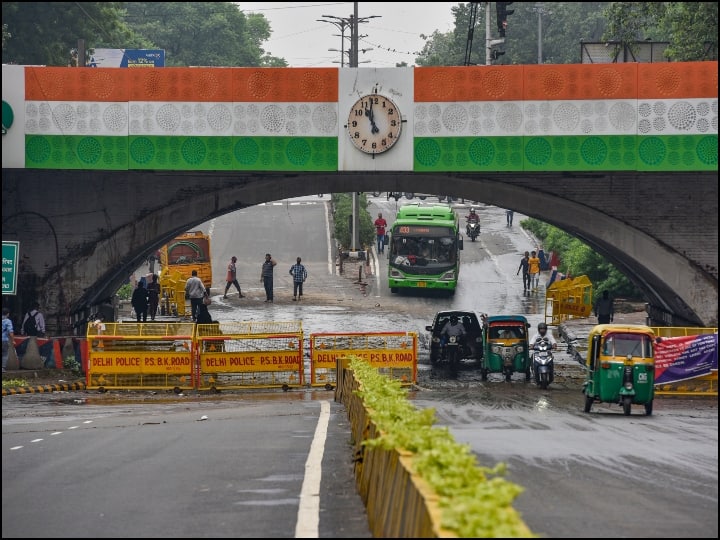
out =
[[338,358],[357,356],[402,384],[417,382],[417,333],[346,332],[310,335],[310,385],[328,390],[337,383]]

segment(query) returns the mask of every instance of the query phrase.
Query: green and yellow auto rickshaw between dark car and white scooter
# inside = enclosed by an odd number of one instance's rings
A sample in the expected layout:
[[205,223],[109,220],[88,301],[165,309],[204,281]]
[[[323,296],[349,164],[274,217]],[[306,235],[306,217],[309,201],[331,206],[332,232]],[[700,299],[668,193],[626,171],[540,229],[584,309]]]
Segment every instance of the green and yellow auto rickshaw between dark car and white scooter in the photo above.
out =
[[502,373],[510,382],[513,373],[524,373],[530,380],[528,328],[530,323],[522,315],[495,315],[483,319],[484,354],[480,367],[483,381],[489,373]]

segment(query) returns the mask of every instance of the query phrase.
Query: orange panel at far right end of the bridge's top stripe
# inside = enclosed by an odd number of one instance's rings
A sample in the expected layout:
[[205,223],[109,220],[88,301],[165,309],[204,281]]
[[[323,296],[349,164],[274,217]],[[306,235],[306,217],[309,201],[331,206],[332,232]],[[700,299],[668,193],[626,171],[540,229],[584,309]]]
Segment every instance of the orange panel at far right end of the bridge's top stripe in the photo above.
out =
[[717,98],[717,62],[638,64],[641,99]]

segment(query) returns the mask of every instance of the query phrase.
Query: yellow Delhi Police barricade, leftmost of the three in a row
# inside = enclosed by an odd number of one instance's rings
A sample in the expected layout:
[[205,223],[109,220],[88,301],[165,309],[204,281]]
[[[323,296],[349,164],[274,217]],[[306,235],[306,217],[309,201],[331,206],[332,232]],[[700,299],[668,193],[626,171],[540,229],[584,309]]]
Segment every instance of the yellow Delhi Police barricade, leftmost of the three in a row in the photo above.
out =
[[192,389],[195,324],[88,325],[88,389]]

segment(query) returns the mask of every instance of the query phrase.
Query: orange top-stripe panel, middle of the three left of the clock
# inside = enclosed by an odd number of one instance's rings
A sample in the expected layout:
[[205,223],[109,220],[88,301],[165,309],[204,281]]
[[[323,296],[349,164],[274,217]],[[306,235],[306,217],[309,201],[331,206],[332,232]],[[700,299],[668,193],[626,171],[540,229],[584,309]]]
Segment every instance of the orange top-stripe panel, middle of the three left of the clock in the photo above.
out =
[[121,68],[130,101],[232,101],[232,68]]

